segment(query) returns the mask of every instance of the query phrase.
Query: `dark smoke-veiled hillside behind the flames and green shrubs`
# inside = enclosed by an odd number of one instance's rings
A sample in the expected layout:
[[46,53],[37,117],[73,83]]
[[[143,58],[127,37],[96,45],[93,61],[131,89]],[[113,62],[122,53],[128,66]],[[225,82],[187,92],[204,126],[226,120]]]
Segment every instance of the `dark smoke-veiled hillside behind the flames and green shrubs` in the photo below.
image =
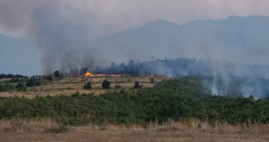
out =
[[[80,74],[85,71],[87,69],[82,68]],[[112,63],[109,68],[96,66],[92,73],[154,75],[172,78],[198,75],[203,78],[201,83],[213,95],[231,97],[253,95],[255,99],[269,97],[268,65],[177,58],[175,60],[157,59],[141,63],[130,62],[128,65]]]

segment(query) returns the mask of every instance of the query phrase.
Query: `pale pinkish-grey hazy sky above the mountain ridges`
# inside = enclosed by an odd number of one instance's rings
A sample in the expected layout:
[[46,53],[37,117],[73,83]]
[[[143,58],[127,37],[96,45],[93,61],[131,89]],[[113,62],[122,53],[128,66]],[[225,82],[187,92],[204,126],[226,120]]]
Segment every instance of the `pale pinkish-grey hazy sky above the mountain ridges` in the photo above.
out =
[[89,30],[90,38],[98,38],[156,19],[182,24],[230,15],[269,15],[268,4],[268,0],[0,0],[0,33],[30,38],[29,26],[36,22],[33,13],[41,7],[61,22],[87,25],[84,30]]

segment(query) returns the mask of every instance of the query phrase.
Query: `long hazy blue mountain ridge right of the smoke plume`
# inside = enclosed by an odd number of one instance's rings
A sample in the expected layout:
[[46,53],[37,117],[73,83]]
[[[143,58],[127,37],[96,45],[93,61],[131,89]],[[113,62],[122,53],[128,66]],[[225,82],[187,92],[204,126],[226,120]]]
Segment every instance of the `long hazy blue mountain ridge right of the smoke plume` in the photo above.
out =
[[121,63],[150,57],[189,57],[268,64],[269,16],[230,16],[178,25],[165,20],[96,40],[101,57]]

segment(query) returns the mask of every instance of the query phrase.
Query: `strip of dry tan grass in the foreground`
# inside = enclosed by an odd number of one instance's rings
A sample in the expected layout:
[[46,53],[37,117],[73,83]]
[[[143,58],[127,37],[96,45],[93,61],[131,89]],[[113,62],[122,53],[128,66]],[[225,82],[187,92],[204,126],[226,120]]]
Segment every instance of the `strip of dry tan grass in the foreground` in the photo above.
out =
[[148,128],[140,125],[125,126],[96,126],[71,127],[66,133],[45,133],[55,127],[50,119],[31,121],[1,121],[0,141],[186,141],[186,142],[265,142],[269,141],[269,125],[253,124],[231,126],[216,124],[211,127],[208,123],[191,120],[189,122],[169,122],[163,125],[152,123]]

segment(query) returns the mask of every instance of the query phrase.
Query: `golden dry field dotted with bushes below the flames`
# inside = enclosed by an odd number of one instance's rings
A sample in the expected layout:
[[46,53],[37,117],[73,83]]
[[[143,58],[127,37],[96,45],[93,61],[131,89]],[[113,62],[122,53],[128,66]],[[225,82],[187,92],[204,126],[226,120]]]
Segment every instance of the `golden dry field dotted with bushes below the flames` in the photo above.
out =
[[[120,85],[123,89],[130,89],[134,86],[135,81],[139,81],[140,84],[145,87],[152,87],[154,84],[150,82],[149,76],[106,76],[106,77],[65,77],[61,80],[54,80],[47,82],[45,85],[28,87],[27,91],[7,91],[0,92],[0,96],[24,96],[27,98],[32,98],[36,95],[39,96],[55,96],[55,95],[72,95],[76,92],[80,93],[94,93],[96,95],[106,92],[114,91],[115,85]],[[102,82],[107,79],[111,82],[111,89],[103,89]],[[161,81],[162,77],[154,77],[155,82]],[[8,79],[1,79],[0,82],[4,82]],[[92,89],[83,89],[83,85],[90,81]],[[16,85],[16,83],[14,83]]]

